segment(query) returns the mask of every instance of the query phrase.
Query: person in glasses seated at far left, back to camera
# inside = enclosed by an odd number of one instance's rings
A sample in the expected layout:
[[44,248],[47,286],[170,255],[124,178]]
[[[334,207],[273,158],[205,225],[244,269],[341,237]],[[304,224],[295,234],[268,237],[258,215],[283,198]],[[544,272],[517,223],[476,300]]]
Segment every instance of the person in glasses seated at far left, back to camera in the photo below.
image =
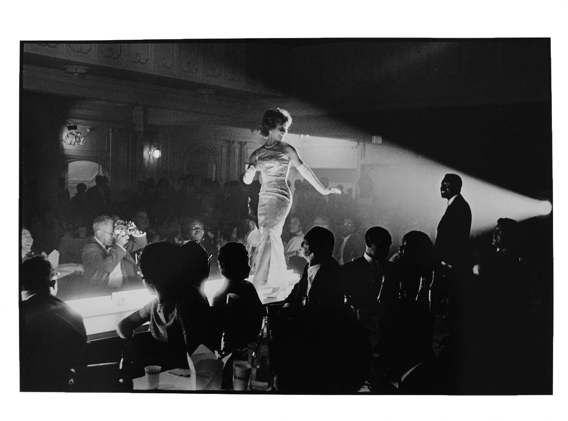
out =
[[36,256],[22,264],[22,391],[66,391],[69,370],[85,364],[83,318],[57,298],[49,261]]

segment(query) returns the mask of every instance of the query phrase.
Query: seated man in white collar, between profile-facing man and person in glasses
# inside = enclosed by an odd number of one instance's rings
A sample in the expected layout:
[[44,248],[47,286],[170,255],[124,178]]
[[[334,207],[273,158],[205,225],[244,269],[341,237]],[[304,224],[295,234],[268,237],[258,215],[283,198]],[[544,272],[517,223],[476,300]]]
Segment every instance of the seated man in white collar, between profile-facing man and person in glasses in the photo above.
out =
[[386,260],[390,246],[389,231],[382,227],[371,227],[365,233],[363,255],[343,266],[344,290],[351,295],[351,303],[356,310],[375,311],[379,298],[381,307],[385,307],[398,297],[396,269],[394,264]]

